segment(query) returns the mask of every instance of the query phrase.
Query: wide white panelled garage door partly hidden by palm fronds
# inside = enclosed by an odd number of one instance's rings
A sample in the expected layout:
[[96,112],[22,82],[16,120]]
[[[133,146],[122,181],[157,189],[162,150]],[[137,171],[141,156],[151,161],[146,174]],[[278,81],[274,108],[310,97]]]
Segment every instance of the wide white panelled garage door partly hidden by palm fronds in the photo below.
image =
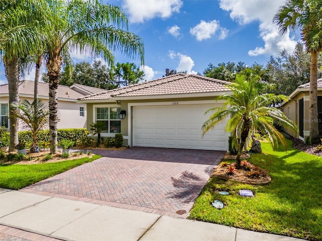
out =
[[133,146],[227,151],[226,122],[202,138],[205,111],[221,104],[133,106]]

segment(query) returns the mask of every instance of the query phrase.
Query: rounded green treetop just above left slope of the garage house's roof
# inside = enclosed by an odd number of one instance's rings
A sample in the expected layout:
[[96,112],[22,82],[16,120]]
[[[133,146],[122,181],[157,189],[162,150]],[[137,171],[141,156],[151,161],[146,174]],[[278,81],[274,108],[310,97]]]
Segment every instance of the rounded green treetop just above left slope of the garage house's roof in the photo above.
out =
[[118,87],[121,87],[137,84],[143,80],[145,74],[134,63],[117,63],[113,75],[116,78]]

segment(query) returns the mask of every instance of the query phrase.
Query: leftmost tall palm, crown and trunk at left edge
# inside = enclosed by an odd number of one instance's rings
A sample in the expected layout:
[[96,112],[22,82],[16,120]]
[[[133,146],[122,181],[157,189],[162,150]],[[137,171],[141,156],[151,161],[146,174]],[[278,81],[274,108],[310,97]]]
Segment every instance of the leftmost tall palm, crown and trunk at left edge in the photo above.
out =
[[[43,5],[41,1],[7,1],[2,2],[0,9],[0,56],[3,58],[5,73],[9,84],[9,103],[19,101],[19,75],[22,72],[20,63],[34,53],[41,45],[39,28],[42,22]],[[33,11],[32,11],[33,10]],[[14,111],[9,105],[9,113]],[[9,115],[10,145],[13,151],[18,144],[17,118]]]

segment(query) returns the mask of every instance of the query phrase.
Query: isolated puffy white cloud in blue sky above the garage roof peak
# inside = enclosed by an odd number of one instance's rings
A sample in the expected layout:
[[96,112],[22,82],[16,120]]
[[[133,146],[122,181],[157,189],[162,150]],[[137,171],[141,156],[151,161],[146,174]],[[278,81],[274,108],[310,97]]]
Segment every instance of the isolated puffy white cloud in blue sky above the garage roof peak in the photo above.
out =
[[210,39],[216,33],[218,35],[218,39],[225,39],[228,34],[228,30],[220,27],[219,21],[217,20],[210,22],[201,20],[200,24],[190,29],[190,34],[196,36],[198,41]]

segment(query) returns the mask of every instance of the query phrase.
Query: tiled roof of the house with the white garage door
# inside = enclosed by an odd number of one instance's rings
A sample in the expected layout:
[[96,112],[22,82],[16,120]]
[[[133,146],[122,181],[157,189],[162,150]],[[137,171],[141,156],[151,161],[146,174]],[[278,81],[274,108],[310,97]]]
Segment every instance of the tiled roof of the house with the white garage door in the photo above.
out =
[[196,74],[174,74],[139,84],[87,95],[78,100],[103,100],[111,97],[140,97],[227,92],[230,82]]

